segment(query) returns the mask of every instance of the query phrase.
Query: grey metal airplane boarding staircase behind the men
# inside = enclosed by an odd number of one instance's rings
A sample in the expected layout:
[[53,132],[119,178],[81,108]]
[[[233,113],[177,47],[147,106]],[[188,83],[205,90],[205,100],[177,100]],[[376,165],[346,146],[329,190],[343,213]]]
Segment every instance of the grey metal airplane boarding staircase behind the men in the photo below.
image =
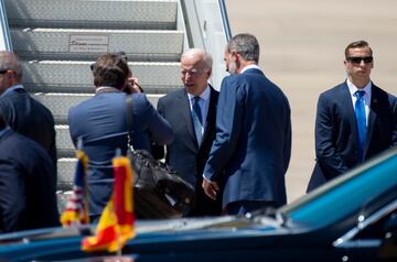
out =
[[[159,97],[182,87],[179,62],[184,50],[217,46],[214,61],[219,63],[215,63],[213,72],[224,72],[222,56],[226,37],[221,19],[215,25],[215,36],[210,34],[212,21],[217,18],[215,10],[225,6],[221,0],[205,3],[201,0],[0,2],[6,7],[6,28],[9,26],[12,42],[8,50],[22,63],[22,84],[55,118],[58,196],[71,189],[76,165],[67,111],[94,96],[90,65],[100,54],[125,52],[133,76],[154,107]],[[206,10],[206,14],[197,8]],[[223,17],[229,34],[225,9],[223,12],[218,11],[217,15]]]

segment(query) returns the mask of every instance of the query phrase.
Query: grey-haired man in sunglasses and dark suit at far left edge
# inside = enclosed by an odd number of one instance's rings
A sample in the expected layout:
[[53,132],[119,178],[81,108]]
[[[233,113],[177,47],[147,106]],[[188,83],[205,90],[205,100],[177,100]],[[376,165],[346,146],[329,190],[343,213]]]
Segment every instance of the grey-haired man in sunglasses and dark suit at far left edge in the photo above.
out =
[[6,122],[13,131],[41,144],[56,167],[54,117],[28,94],[21,80],[22,67],[17,55],[0,52],[0,109]]

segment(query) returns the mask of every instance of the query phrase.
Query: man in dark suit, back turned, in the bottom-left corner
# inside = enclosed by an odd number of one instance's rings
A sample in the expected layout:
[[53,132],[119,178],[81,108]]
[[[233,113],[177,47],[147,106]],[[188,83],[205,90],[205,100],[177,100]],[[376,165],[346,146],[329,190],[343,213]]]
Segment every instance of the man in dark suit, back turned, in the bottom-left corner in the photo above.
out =
[[60,225],[54,176],[50,155],[13,132],[0,110],[0,232]]

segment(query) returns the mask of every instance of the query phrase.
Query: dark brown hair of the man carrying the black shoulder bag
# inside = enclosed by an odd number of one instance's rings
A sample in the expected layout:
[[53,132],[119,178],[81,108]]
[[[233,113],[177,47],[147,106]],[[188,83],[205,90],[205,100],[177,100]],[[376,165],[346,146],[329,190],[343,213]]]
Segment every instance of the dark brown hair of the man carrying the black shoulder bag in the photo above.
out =
[[129,74],[125,57],[115,53],[99,56],[93,66],[94,85],[97,87],[110,86],[121,89]]

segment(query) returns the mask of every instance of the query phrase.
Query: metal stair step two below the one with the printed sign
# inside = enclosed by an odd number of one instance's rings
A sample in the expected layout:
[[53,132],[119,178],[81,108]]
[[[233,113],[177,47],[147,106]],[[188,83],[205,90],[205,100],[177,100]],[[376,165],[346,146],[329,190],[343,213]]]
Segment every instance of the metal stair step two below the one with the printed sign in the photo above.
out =
[[[67,112],[71,107],[74,107],[82,101],[87,100],[93,97],[94,94],[62,94],[62,92],[36,92],[32,94],[33,97],[41,101],[45,107],[47,107],[55,119],[57,124],[67,123]],[[148,100],[157,108],[157,102],[160,97],[163,95],[159,94],[148,94]]]

